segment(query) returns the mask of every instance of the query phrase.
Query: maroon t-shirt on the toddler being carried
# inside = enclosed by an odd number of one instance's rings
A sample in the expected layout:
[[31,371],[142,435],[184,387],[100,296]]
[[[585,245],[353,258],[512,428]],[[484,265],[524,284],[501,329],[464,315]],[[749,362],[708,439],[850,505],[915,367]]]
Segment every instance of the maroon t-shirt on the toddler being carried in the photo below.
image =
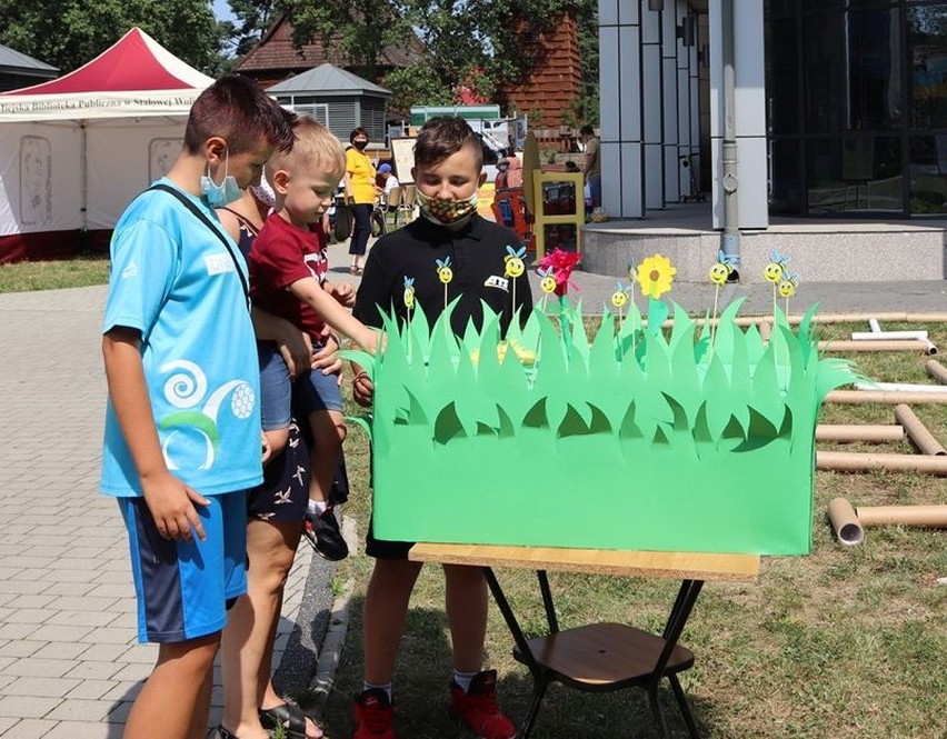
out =
[[319,339],[326,322],[289,290],[307,277],[326,281],[329,260],[326,236],[293,226],[279,213],[271,213],[250,248],[250,298],[255,306],[290,321],[312,339]]

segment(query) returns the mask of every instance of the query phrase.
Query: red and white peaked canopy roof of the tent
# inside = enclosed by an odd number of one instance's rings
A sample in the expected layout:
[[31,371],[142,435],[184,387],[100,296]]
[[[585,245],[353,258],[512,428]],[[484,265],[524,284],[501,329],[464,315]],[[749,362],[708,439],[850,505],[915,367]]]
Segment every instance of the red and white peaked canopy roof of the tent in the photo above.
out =
[[54,80],[0,93],[0,121],[187,116],[213,80],[139,28]]

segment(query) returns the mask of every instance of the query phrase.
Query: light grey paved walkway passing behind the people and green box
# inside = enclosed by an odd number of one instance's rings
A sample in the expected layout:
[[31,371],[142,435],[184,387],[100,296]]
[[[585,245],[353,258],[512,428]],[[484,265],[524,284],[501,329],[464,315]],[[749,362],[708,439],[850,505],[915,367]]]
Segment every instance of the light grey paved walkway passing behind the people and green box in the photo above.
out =
[[[332,263],[347,266],[343,246]],[[432,266],[433,268],[433,266]],[[337,279],[357,281],[346,270]],[[577,273],[598,312],[612,278]],[[709,287],[709,286],[708,286]],[[750,308],[771,304],[768,286],[734,288]],[[156,648],[139,646],[124,529],[98,493],[106,385],[100,321],[104,287],[0,294],[0,737],[118,739]],[[675,286],[689,309],[712,306],[705,286]],[[803,286],[800,309],[947,311],[947,283]],[[756,303],[759,303],[756,307]],[[308,547],[289,578],[278,657],[297,617],[312,632],[309,582],[325,579]],[[321,562],[321,560],[316,560]],[[322,583],[325,588],[325,582]],[[320,611],[325,615],[323,611]],[[215,716],[220,690],[215,691]]]

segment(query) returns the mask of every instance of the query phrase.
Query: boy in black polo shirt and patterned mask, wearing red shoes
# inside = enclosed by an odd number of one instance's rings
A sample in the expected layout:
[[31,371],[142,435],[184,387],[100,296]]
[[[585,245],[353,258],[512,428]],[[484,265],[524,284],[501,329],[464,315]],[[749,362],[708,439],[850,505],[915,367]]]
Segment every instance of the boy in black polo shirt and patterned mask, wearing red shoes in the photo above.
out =
[[[381,328],[379,308],[407,318],[405,278],[413,279],[415,301],[433,322],[445,306],[445,284],[436,272],[437,260],[450,258],[453,279],[447,284],[448,302],[460,300],[451,316],[455,333],[462,336],[469,320],[482,321],[480,301],[502,316],[509,326],[532,308],[525,273],[505,276],[507,247],[519,248],[517,236],[477,214],[481,171],[480,141],[459,118],[432,118],[425,123],[415,146],[415,182],[421,218],[375,244],[365,267],[353,314],[368,326]],[[516,280],[514,289],[512,280]],[[514,297],[516,307],[514,306]],[[372,387],[359,372],[355,397],[371,403]],[[398,647],[405,631],[408,601],[421,565],[407,559],[409,542],[382,541],[369,527],[366,551],[376,558],[365,601],[365,683],[356,697],[353,739],[395,739],[391,680]],[[480,568],[443,566],[446,610],[453,643],[455,711],[484,739],[512,739],[516,727],[497,705],[496,670],[481,670],[487,630],[487,583]]]

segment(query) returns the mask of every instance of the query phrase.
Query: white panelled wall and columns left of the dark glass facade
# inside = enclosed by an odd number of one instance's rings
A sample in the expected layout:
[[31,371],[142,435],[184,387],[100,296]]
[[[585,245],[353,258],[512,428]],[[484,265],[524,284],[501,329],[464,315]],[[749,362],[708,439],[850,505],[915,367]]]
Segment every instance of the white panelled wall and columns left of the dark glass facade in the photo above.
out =
[[[687,0],[665,0],[660,11],[648,4],[599,0],[602,206],[611,218],[644,218],[646,209],[691,194],[681,157],[700,171],[699,34],[695,28],[695,43],[686,47],[677,32],[687,22]],[[708,21],[715,228],[724,227],[720,4],[709,1]],[[767,228],[764,10],[761,2],[734,4],[738,226]]]

